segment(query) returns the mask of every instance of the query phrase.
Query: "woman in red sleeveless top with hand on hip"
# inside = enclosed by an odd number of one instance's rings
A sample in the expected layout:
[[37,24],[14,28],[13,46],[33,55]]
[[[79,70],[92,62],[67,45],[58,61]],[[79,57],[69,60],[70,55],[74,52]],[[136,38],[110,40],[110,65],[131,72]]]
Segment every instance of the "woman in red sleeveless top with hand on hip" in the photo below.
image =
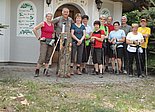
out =
[[[41,22],[34,27],[33,32],[38,40],[40,40],[40,56],[37,62],[37,67],[35,70],[35,77],[39,76],[39,69],[41,65],[45,64],[45,69],[43,74],[49,76],[48,74],[48,63],[51,58],[53,47],[50,42],[52,42],[52,34],[54,33],[54,25],[51,23],[52,14],[46,14],[46,21]],[[37,32],[41,29],[41,36]]]

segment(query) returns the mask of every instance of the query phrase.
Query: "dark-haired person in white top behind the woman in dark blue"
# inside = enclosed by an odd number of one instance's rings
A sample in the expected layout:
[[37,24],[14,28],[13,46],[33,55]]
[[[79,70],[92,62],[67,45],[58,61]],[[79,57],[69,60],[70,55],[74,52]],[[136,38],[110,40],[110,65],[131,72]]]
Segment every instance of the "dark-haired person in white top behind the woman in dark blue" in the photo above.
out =
[[83,55],[82,55],[82,73],[87,73],[86,70],[86,63],[88,62],[90,51],[91,51],[91,43],[90,43],[90,36],[92,34],[92,28],[88,25],[89,17],[88,15],[82,16],[82,24],[86,28],[86,36],[85,36],[85,42],[83,47]]

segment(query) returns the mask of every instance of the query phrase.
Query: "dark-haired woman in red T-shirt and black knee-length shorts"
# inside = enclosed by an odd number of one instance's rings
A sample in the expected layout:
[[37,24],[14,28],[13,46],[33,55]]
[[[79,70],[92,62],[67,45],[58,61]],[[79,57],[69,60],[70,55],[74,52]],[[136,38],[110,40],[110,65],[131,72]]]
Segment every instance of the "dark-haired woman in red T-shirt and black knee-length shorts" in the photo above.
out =
[[105,33],[103,30],[100,30],[100,26],[101,26],[100,21],[94,22],[95,31],[93,32],[91,37],[91,40],[94,43],[93,63],[94,63],[96,75],[103,73],[102,44],[105,38]]

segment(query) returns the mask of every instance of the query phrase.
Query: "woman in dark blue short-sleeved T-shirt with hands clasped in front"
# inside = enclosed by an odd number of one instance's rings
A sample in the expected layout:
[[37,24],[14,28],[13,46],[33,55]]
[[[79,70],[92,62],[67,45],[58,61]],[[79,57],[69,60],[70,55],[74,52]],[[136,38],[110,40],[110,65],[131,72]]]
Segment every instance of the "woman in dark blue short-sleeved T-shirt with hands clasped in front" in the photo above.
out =
[[82,25],[82,16],[80,13],[75,15],[75,23],[71,26],[72,35],[72,51],[71,51],[71,74],[73,75],[73,66],[75,61],[75,55],[77,53],[76,64],[77,64],[77,74],[81,75],[80,65],[82,63],[82,54],[84,47],[84,39],[86,35],[85,26]]

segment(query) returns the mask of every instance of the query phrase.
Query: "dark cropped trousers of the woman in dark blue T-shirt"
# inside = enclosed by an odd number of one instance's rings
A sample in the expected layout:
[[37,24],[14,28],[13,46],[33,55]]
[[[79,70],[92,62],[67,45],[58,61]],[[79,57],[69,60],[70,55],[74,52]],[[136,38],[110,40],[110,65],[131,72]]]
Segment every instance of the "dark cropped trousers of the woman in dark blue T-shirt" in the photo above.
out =
[[76,53],[77,53],[76,63],[77,64],[81,64],[82,63],[83,46],[84,46],[83,43],[81,45],[79,45],[79,46],[77,45],[76,42],[72,43],[71,63],[75,62]]

